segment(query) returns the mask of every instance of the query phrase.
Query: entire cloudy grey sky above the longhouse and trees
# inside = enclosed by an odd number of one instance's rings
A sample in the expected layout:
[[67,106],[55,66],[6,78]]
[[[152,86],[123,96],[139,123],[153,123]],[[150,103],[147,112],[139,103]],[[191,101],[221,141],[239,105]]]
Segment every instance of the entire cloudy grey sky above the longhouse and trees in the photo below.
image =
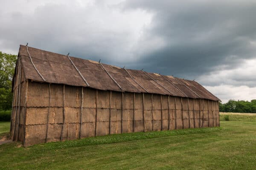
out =
[[256,99],[255,0],[1,0],[0,51],[19,44],[195,79]]

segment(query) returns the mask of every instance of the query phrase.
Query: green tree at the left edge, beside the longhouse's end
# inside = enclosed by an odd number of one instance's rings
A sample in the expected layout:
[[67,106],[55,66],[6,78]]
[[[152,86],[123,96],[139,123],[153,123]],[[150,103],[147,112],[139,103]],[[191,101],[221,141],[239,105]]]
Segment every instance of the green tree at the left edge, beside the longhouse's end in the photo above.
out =
[[12,108],[12,77],[17,56],[0,51],[0,110]]

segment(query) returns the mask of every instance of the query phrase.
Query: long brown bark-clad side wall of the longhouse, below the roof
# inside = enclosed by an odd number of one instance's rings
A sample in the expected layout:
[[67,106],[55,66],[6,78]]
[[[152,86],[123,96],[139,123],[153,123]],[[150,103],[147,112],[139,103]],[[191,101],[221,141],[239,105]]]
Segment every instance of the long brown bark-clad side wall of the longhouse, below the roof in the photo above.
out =
[[17,114],[20,135],[16,138],[15,133],[14,138],[24,146],[116,133],[219,126],[218,101],[63,84],[23,84],[24,101]]

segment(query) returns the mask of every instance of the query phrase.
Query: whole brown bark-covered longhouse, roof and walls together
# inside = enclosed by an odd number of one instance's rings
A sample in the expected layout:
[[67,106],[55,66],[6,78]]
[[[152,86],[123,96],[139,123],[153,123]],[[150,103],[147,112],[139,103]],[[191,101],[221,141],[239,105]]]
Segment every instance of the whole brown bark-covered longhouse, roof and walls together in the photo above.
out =
[[[142,75],[142,71],[94,62],[98,68],[91,72],[98,73],[98,80],[81,74],[92,66],[79,58],[72,61],[85,65],[69,63],[71,73],[75,65],[80,66],[74,74],[65,75],[65,70],[56,70],[62,61],[57,57],[63,55],[31,47],[24,51],[26,48],[20,48],[13,79],[10,130],[12,139],[24,146],[116,133],[219,126],[219,99],[197,82],[147,72]],[[45,67],[49,67],[48,74]],[[100,82],[101,78],[105,82]]]

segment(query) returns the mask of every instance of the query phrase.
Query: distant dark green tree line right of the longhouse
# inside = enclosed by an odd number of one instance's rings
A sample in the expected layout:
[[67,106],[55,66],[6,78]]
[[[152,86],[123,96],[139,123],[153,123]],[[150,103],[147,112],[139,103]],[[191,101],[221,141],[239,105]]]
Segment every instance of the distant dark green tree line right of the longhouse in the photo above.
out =
[[256,99],[249,101],[228,100],[227,103],[219,103],[220,112],[256,113]]

